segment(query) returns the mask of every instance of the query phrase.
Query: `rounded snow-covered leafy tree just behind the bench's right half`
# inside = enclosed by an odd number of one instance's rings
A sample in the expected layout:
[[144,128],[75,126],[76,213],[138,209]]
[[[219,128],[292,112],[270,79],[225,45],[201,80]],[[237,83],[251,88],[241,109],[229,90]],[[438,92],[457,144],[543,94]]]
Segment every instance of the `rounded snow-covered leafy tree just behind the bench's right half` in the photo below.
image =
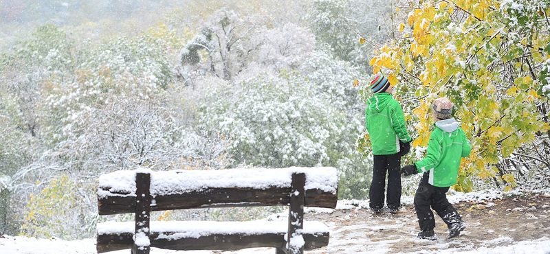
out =
[[[234,100],[227,100],[225,93],[234,95]],[[292,74],[259,76],[213,91],[201,110],[208,126],[218,126],[234,137],[232,154],[237,165],[327,165],[327,146],[333,138],[329,133],[336,137],[342,131],[342,116],[312,94],[305,80]]]

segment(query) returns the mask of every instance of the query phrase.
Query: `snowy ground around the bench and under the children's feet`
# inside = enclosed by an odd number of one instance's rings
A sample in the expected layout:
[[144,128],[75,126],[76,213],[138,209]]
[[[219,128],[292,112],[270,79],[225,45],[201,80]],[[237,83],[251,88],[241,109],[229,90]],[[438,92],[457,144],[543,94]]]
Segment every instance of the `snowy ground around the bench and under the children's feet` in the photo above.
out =
[[[501,193],[455,193],[450,195],[452,203],[461,204],[483,204],[483,214],[491,217],[500,215],[498,210],[491,210],[499,204],[497,201],[502,198]],[[526,229],[509,228],[514,227],[506,224],[504,232],[496,232],[489,229],[489,225],[479,222],[483,217],[482,213],[464,208],[461,213],[470,227],[463,232],[459,238],[452,240],[445,239],[446,229],[441,227],[441,220],[437,223],[439,239],[437,241],[417,240],[415,233],[417,231],[415,223],[415,214],[412,211],[410,203],[412,197],[403,198],[404,207],[396,215],[384,213],[381,216],[372,216],[369,212],[367,201],[340,200],[338,207],[332,209],[307,209],[307,220],[321,220],[331,229],[331,240],[329,246],[315,251],[306,251],[308,254],[351,254],[351,253],[494,253],[494,254],[518,254],[518,253],[550,253],[550,229],[547,228],[550,216],[550,204],[544,204],[550,200],[549,192],[538,194],[543,203],[531,205],[531,207],[516,207],[516,209],[500,209],[500,211],[509,211],[509,218],[493,218],[498,220],[521,220],[518,225],[525,225]],[[497,201],[495,201],[497,200]],[[494,203],[493,203],[494,202]],[[497,205],[494,205],[494,204]],[[531,202],[532,203],[532,202]],[[525,203],[529,205],[528,203]],[[525,205],[524,204],[524,205]],[[514,205],[514,203],[512,203]],[[479,209],[480,205],[474,205]],[[525,208],[525,211],[522,209]],[[514,210],[514,211],[512,211]],[[480,210],[481,211],[481,210]],[[522,213],[517,213],[521,211]],[[476,213],[477,212],[477,213]],[[512,213],[516,212],[516,213]],[[524,216],[525,213],[525,216]],[[519,214],[519,215],[518,215]],[[470,216],[471,215],[471,216]],[[282,218],[284,220],[284,218]],[[483,221],[483,220],[482,220]],[[489,223],[489,222],[487,222]],[[543,226],[544,225],[544,226]],[[495,226],[495,225],[490,225]],[[532,227],[532,228],[530,228]],[[469,230],[470,229],[470,230]],[[531,231],[531,232],[529,232]],[[533,231],[538,233],[536,236],[524,239],[527,233],[533,235]],[[523,238],[515,236],[522,235]],[[96,253],[95,241],[93,239],[63,241],[56,239],[35,239],[25,237],[3,236],[0,238],[1,254],[84,254]],[[113,251],[111,254],[128,254],[129,250]],[[213,251],[166,251],[152,249],[151,254],[263,254],[275,253],[274,249],[245,249],[241,251],[213,252]]]

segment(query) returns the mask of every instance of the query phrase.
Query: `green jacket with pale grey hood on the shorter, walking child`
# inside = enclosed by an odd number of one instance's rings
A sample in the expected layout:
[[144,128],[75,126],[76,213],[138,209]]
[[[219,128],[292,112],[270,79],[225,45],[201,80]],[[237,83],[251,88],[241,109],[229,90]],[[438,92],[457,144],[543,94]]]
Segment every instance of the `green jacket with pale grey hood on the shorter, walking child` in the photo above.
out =
[[470,142],[454,118],[438,121],[430,135],[426,158],[417,161],[418,172],[430,172],[428,183],[436,187],[456,184],[461,157],[470,155]]

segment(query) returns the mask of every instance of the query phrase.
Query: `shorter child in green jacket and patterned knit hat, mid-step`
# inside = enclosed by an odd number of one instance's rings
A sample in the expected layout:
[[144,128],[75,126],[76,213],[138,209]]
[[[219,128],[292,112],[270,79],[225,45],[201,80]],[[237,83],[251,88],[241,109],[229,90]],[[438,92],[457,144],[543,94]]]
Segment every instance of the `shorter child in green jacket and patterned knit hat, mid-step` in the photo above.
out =
[[447,224],[448,238],[460,235],[466,227],[445,196],[449,187],[456,184],[461,157],[470,155],[471,150],[464,130],[451,117],[452,107],[452,102],[446,97],[435,100],[432,111],[437,128],[430,135],[426,158],[401,169],[404,176],[424,172],[415,194],[415,209],[421,229],[417,237],[421,239],[437,239],[432,209]]

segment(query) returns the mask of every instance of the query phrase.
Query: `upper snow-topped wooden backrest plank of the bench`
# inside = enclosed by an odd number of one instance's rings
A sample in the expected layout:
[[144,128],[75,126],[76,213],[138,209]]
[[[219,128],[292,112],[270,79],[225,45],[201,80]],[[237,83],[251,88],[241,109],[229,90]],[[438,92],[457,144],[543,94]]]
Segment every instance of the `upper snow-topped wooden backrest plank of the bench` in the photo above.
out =
[[[305,206],[335,208],[335,168],[126,170],[99,179],[100,215],[135,212],[135,174],[151,174],[151,211],[288,205],[293,173],[305,173]],[[208,192],[206,192],[208,190]]]

